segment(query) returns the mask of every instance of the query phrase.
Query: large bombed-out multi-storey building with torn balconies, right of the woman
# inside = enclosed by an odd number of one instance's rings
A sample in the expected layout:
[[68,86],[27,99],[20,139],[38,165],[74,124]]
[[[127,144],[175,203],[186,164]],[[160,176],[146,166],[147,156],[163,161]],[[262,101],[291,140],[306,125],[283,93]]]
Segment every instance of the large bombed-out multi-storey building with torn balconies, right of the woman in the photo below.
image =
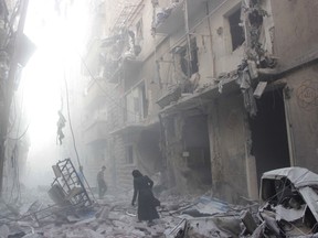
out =
[[[86,91],[97,98],[86,108],[95,127],[87,144],[98,165],[109,162],[112,184],[131,187],[138,167],[180,193],[212,190],[240,203],[258,197],[265,171],[318,172],[317,8],[315,0],[98,3],[83,69],[97,89]],[[104,122],[92,117],[103,110]]]

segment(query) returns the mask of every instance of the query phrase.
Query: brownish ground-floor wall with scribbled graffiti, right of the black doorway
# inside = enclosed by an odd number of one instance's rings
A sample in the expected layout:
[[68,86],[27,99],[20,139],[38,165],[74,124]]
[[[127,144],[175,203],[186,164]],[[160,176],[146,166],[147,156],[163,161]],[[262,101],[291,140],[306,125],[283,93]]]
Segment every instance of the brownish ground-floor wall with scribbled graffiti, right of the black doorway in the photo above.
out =
[[318,172],[318,65],[286,76],[285,108],[288,117],[292,165]]

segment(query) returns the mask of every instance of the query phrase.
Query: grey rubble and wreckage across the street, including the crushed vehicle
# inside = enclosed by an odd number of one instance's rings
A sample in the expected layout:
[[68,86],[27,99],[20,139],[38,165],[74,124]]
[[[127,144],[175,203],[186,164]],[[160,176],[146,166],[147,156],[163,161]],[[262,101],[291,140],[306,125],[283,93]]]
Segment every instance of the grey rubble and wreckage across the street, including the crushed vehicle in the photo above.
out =
[[[137,221],[132,191],[113,191],[91,206],[61,207],[40,201],[1,203],[0,237],[317,237],[318,175],[301,167],[263,174],[262,205],[246,199],[232,205],[211,194],[160,193],[160,219]],[[47,195],[47,194],[46,194]]]

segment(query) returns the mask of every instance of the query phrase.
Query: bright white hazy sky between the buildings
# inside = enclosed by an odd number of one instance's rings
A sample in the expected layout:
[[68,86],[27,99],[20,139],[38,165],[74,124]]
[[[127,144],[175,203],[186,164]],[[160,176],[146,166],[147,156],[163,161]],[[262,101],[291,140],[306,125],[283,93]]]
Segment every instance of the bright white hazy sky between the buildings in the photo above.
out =
[[[66,110],[64,71],[78,64],[87,31],[86,0],[29,0],[24,33],[36,51],[23,69],[20,89],[29,115],[31,150],[29,180],[52,182],[51,166],[59,160],[62,147],[56,144],[57,110]],[[75,3],[76,2],[76,3]],[[72,7],[72,8],[71,8]],[[66,78],[71,84],[73,78]],[[64,90],[65,91],[65,90]],[[49,178],[41,178],[50,171]]]

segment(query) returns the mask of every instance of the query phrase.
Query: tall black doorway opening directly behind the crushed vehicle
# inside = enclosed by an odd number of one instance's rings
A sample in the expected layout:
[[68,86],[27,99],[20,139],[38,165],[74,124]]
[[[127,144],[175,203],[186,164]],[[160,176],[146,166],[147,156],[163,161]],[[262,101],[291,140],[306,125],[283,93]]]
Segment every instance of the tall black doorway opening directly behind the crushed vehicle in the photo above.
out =
[[257,116],[250,119],[252,151],[257,181],[269,170],[290,166],[283,88],[264,93],[257,101]]

